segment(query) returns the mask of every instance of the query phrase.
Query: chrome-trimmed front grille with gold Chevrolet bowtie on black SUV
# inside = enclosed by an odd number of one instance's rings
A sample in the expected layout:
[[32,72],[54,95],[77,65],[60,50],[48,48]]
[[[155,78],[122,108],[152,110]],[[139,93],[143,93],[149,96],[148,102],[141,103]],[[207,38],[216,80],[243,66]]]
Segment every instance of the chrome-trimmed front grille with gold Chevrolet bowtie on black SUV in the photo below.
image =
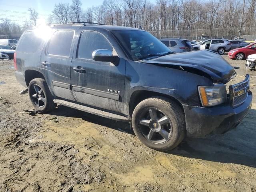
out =
[[246,100],[248,96],[249,87],[249,74],[246,74],[245,79],[242,82],[229,86],[230,102],[232,106],[238,106]]

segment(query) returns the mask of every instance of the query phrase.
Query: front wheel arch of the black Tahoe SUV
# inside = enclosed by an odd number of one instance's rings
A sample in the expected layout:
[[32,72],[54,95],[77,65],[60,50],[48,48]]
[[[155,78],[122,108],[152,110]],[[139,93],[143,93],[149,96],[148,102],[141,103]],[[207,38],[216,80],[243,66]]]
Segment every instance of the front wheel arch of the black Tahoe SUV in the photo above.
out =
[[130,97],[130,102],[129,102],[129,114],[130,114],[130,116],[132,116],[134,108],[142,100],[145,100],[147,98],[154,97],[154,96],[162,96],[162,97],[167,98],[168,100],[171,100],[172,102],[176,102],[176,104],[178,104],[182,108],[182,111],[185,115],[182,103],[177,98],[175,98],[174,96],[170,96],[170,95],[167,95],[167,94],[164,94],[164,93],[161,93],[161,92],[155,92],[155,91],[151,91],[151,90],[136,90],[132,93],[132,95]]

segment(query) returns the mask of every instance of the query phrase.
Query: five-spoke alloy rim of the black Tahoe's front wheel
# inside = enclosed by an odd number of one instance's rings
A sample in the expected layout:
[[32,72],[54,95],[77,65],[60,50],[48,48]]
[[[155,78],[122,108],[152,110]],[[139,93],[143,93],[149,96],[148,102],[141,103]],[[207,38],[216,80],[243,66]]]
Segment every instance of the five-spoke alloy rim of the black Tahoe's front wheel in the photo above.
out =
[[140,118],[140,132],[150,142],[165,143],[172,136],[170,119],[156,108],[147,108]]

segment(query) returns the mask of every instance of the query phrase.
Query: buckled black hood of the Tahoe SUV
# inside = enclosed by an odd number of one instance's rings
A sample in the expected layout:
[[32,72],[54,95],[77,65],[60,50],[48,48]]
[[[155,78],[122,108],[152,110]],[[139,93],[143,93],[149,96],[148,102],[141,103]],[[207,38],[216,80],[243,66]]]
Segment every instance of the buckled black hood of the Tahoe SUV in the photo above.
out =
[[213,83],[227,83],[236,76],[234,68],[222,56],[209,50],[170,54],[142,62],[171,68],[178,67],[188,72],[196,69],[208,74]]

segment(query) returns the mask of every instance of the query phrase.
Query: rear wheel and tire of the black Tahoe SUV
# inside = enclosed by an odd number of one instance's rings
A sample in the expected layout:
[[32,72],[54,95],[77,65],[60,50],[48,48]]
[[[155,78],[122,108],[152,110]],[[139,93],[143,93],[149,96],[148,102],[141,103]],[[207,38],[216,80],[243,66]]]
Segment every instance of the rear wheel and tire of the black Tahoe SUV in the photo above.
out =
[[45,113],[54,110],[56,104],[44,79],[35,78],[28,85],[28,94],[36,111]]

